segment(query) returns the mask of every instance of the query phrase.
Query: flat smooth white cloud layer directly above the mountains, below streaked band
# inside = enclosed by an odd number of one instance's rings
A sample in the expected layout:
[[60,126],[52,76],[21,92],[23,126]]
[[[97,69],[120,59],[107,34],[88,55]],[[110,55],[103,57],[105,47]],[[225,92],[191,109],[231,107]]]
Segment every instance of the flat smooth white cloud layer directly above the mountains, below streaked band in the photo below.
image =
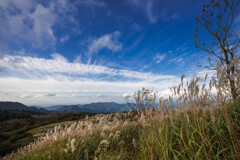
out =
[[[176,80],[147,83],[144,81],[109,82],[91,79],[69,81],[53,78],[32,80],[5,77],[0,78],[0,100],[20,101],[31,105],[78,104],[98,101],[125,103],[122,95],[126,92],[137,91],[142,87],[162,91],[174,83]],[[52,93],[55,96],[48,96]]]

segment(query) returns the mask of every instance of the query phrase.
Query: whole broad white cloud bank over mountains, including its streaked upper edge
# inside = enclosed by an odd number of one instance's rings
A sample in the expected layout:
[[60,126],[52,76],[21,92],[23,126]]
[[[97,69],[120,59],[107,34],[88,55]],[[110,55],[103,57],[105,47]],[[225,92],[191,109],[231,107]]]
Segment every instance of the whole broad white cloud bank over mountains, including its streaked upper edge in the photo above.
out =
[[0,100],[29,105],[124,103],[122,95],[128,91],[142,87],[163,91],[178,79],[172,75],[69,62],[59,54],[52,57],[5,55],[0,59]]

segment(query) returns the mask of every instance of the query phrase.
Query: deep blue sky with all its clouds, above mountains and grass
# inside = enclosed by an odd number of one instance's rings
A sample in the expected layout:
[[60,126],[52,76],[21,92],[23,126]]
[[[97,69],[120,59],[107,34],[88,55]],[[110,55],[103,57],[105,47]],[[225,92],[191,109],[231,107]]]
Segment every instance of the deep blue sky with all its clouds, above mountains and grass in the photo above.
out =
[[0,101],[125,103],[204,74],[199,0],[1,0]]

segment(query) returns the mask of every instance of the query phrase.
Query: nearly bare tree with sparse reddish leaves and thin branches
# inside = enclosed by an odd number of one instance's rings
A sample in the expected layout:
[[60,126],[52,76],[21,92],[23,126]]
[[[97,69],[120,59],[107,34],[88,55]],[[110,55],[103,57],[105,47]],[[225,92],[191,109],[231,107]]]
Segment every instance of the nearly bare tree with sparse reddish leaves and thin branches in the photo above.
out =
[[[240,94],[239,47],[240,15],[239,0],[211,0],[202,7],[202,15],[196,18],[201,28],[207,31],[209,41],[203,41],[205,33],[196,29],[193,35],[196,48],[215,57],[204,66],[217,71],[215,80],[231,93],[233,99]],[[238,21],[238,22],[237,22]]]

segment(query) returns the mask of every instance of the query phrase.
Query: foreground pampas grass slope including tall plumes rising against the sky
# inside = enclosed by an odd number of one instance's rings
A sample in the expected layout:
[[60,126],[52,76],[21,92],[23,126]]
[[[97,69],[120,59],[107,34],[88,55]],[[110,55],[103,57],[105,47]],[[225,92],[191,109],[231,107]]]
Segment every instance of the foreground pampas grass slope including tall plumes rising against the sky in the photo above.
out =
[[55,126],[4,159],[240,159],[240,99],[220,89],[211,94],[198,81],[182,80],[159,106],[155,94],[143,89],[133,97],[136,111]]

